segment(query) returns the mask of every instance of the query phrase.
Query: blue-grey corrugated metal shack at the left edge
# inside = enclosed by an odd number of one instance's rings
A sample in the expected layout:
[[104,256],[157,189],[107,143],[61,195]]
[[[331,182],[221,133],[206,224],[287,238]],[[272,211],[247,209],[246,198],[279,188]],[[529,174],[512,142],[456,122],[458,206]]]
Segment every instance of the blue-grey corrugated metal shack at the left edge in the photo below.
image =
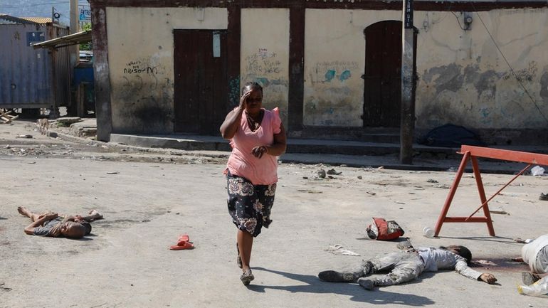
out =
[[0,108],[48,108],[50,115],[58,115],[58,107],[70,105],[68,48],[32,46],[68,33],[51,18],[0,14]]

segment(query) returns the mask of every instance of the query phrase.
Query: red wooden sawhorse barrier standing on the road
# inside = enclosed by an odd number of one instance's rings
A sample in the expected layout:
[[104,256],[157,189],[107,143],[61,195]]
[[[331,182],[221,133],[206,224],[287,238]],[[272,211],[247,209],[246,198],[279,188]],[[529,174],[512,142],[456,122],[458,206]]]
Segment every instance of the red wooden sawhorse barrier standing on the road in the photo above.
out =
[[[510,151],[505,149],[490,149],[486,147],[473,147],[469,145],[463,145],[460,147],[459,154],[464,154],[463,160],[460,161],[460,166],[458,167],[457,174],[455,176],[455,180],[453,181],[453,185],[451,186],[451,189],[449,191],[449,194],[446,199],[446,203],[443,205],[443,209],[441,210],[440,217],[438,218],[438,222],[436,223],[436,232],[434,233],[434,236],[438,236],[440,234],[441,225],[443,223],[487,223],[487,228],[489,230],[489,235],[495,236],[495,229],[492,227],[492,221],[491,221],[491,215],[489,213],[489,206],[488,202],[492,200],[492,198],[495,198],[502,189],[506,188],[506,186],[510,185],[512,181],[517,179],[518,176],[522,175],[527,169],[529,169],[532,164],[539,164],[539,165],[548,165],[548,155],[546,154],[535,154],[535,153],[529,153],[529,152],[518,152],[518,151]],[[478,159],[476,157],[484,157],[489,159],[500,159],[504,161],[517,161],[526,163],[527,166],[525,166],[522,171],[520,171],[518,174],[516,174],[505,186],[502,186],[495,194],[493,194],[489,199],[485,198],[485,190],[483,189],[483,182],[481,181],[481,174],[480,174],[480,168],[478,166]],[[472,161],[472,169],[474,171],[474,177],[475,177],[475,183],[478,185],[478,192],[480,193],[480,201],[481,205],[478,209],[474,211],[474,213],[470,214],[468,217],[447,217],[447,212],[449,211],[449,206],[451,205],[451,201],[453,201],[453,197],[455,196],[455,192],[457,191],[458,184],[460,183],[460,178],[463,177],[464,169],[466,167],[466,164],[468,164],[468,160]],[[474,216],[475,213],[478,213],[480,209],[483,208],[483,217],[480,216]]]

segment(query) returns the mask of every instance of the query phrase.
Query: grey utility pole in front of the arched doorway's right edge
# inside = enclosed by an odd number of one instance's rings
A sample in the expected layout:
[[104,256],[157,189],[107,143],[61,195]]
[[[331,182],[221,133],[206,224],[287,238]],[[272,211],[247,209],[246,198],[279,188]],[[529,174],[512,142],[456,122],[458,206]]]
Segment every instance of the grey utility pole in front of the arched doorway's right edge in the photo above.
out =
[[413,132],[415,128],[413,0],[403,0],[401,2],[404,5],[404,9],[401,14],[401,122],[399,159],[401,164],[413,164]]

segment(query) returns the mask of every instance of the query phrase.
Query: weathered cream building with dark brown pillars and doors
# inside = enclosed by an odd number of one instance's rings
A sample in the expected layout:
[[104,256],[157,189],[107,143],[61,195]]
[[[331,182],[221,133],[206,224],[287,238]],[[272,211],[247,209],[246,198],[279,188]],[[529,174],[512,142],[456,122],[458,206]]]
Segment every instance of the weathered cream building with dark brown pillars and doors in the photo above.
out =
[[[100,139],[216,134],[250,80],[293,137],[399,127],[401,1],[90,4]],[[490,143],[547,142],[547,2],[414,9],[416,134],[453,123]]]

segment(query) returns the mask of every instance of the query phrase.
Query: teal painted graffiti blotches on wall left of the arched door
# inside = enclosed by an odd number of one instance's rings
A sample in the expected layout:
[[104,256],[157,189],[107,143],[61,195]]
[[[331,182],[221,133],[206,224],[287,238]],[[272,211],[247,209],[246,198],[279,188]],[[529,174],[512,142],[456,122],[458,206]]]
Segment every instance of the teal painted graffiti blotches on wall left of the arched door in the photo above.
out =
[[312,83],[332,83],[338,80],[344,83],[352,77],[359,65],[356,61],[322,61],[316,63],[312,68]]

